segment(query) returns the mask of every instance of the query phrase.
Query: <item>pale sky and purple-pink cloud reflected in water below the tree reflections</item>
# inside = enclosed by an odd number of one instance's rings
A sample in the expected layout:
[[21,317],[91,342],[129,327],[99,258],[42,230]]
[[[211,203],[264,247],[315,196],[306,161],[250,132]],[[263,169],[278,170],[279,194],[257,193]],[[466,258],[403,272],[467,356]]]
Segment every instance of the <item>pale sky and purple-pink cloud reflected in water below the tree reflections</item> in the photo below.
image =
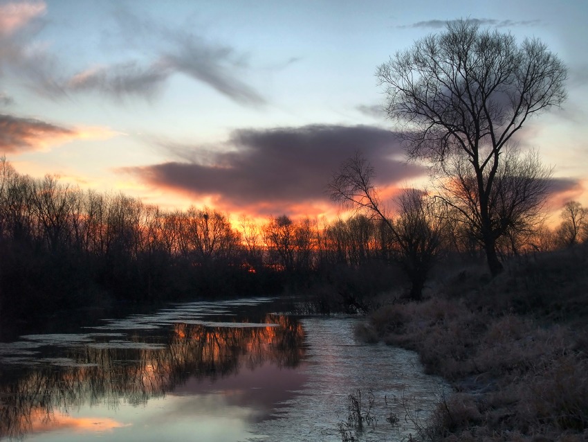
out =
[[84,405],[71,414],[57,412],[50,423],[35,414],[33,434],[27,440],[79,441],[242,441],[250,425],[269,418],[278,403],[300,391],[306,376],[304,364],[280,369],[266,363],[244,367],[236,375],[217,380],[190,378],[165,398],[147,404],[116,407]]

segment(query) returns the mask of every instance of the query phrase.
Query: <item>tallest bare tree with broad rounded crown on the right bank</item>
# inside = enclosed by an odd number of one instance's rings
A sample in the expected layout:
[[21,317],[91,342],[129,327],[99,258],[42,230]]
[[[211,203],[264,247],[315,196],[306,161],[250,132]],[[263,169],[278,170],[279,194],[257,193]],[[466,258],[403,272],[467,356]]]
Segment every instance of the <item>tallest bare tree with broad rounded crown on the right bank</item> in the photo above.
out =
[[490,272],[498,274],[500,233],[491,212],[503,152],[531,116],[567,98],[566,67],[538,39],[519,44],[508,33],[457,20],[396,53],[376,76],[410,159],[447,176],[457,157],[470,170],[477,195],[472,209],[479,216],[475,227]]

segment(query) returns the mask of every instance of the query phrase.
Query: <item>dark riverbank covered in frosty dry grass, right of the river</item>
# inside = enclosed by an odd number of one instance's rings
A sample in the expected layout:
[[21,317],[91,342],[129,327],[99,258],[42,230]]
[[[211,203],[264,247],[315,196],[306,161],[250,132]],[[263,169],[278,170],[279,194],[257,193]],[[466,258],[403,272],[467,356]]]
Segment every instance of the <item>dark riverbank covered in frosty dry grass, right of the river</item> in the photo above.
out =
[[493,281],[462,269],[421,303],[392,300],[357,332],[418,352],[451,382],[420,427],[424,441],[586,441],[587,268],[584,245],[513,261]]

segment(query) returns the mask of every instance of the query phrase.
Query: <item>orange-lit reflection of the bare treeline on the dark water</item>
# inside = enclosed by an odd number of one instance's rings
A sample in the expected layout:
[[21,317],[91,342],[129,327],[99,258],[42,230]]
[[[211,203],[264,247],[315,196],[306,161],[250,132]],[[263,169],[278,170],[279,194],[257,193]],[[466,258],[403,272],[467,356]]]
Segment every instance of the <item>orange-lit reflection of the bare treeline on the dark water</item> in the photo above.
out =
[[0,438],[24,436],[35,424],[53,421],[56,412],[84,404],[145,404],[190,377],[216,379],[238,373],[244,364],[250,369],[264,362],[300,364],[302,326],[283,315],[267,315],[264,323],[268,326],[176,324],[165,346],[149,346],[138,337],[137,348],[89,344],[66,355],[75,361],[73,366],[39,365],[2,373]]

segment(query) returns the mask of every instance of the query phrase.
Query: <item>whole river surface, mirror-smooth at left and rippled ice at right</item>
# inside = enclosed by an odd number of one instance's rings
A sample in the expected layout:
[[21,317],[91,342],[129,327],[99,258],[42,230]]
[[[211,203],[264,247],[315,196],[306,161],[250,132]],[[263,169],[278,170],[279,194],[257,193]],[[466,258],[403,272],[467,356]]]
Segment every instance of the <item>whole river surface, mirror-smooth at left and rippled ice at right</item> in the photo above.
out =
[[429,409],[441,388],[414,353],[356,342],[358,319],[279,309],[267,298],[183,303],[0,343],[0,440],[341,441],[358,389],[365,409],[373,391],[378,419],[359,440],[414,432],[395,398]]

